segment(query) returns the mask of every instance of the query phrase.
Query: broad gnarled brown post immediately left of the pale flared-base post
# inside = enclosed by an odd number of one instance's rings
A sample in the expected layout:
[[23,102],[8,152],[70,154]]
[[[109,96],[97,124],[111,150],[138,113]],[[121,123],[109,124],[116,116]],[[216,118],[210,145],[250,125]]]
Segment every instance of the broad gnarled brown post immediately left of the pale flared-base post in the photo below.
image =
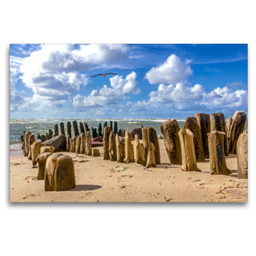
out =
[[164,145],[171,164],[182,164],[180,127],[176,119],[168,119],[160,126],[164,137]]

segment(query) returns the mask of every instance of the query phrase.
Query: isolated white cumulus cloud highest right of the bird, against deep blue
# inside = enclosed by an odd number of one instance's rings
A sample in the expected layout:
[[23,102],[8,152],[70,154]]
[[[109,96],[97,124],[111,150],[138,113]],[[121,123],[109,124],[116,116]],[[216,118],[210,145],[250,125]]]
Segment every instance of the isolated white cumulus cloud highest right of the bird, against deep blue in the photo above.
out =
[[162,65],[151,68],[145,75],[150,84],[177,84],[192,75],[188,65],[191,60],[181,61],[175,54],[170,55]]

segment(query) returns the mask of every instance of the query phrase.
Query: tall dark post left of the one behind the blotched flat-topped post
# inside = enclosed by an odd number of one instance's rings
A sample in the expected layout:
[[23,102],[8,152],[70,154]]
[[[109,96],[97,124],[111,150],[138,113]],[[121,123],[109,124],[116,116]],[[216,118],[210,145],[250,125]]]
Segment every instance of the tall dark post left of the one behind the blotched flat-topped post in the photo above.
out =
[[209,114],[197,113],[195,114],[201,138],[203,142],[204,157],[209,159],[209,143],[207,134],[211,132],[211,121]]

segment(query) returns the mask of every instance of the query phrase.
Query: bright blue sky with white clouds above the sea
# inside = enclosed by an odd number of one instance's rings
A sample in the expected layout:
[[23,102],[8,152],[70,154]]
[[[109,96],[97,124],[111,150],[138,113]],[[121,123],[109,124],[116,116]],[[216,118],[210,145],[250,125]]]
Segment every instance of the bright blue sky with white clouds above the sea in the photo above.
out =
[[[247,115],[247,44],[10,44],[10,118]],[[97,74],[116,73],[91,77]]]

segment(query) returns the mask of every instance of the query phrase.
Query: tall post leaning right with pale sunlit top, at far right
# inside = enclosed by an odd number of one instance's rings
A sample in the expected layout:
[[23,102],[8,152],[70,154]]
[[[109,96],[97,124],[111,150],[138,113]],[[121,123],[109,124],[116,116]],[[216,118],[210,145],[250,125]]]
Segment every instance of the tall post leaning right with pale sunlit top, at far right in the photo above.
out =
[[228,153],[236,155],[236,143],[241,133],[244,131],[246,115],[244,111],[236,111],[231,118],[229,129],[227,125]]

